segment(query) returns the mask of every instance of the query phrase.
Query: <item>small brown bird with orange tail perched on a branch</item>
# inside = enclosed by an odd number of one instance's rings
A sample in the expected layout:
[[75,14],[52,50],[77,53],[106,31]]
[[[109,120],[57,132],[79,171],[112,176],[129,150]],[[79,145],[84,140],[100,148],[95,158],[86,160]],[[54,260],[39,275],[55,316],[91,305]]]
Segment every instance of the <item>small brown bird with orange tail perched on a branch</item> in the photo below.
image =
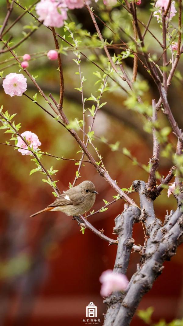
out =
[[88,212],[95,202],[95,185],[91,181],[83,181],[79,185],[65,191],[45,209],[31,215],[41,214],[47,211],[61,211],[68,216],[78,216]]

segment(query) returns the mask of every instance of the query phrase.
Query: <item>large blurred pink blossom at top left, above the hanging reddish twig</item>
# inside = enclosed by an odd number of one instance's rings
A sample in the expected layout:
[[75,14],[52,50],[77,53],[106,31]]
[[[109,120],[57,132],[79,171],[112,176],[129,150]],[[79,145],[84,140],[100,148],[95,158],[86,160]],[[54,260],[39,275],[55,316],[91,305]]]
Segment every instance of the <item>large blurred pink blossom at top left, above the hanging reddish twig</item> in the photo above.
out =
[[36,5],[36,13],[46,26],[62,27],[67,19],[66,3],[63,0],[41,0]]

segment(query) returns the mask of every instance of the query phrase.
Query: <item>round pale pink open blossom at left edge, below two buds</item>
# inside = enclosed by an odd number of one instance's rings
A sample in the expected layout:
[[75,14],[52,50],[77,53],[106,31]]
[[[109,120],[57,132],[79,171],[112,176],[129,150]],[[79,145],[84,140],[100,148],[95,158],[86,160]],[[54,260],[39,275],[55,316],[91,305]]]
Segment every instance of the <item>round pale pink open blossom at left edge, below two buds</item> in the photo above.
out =
[[3,88],[5,93],[11,97],[14,95],[21,96],[27,89],[27,78],[22,74],[11,72],[4,79]]

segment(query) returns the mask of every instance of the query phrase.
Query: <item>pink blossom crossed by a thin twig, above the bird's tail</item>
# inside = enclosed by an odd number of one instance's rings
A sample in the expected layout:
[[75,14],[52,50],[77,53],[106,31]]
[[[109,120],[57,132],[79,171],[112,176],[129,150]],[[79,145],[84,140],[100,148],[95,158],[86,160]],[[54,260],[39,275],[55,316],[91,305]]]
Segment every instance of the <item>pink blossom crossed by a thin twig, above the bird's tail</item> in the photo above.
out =
[[[36,134],[34,134],[31,131],[24,131],[21,136],[27,141],[28,145],[35,151],[35,149],[38,148],[38,146],[41,145],[41,142],[39,141]],[[20,136],[17,137],[17,147],[21,147],[18,149],[18,152],[20,152],[22,155],[32,155],[31,151],[27,151],[28,146],[25,144],[25,142],[20,138]]]

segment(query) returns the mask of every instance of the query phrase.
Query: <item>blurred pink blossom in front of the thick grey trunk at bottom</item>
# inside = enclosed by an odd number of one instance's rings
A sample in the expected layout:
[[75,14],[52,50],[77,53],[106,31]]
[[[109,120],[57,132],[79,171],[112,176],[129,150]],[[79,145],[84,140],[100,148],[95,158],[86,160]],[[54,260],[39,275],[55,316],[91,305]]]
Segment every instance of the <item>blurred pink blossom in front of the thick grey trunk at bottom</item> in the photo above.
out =
[[113,291],[123,291],[128,285],[128,279],[124,274],[113,273],[108,269],[103,272],[99,278],[102,283],[100,294],[103,297],[107,297]]

